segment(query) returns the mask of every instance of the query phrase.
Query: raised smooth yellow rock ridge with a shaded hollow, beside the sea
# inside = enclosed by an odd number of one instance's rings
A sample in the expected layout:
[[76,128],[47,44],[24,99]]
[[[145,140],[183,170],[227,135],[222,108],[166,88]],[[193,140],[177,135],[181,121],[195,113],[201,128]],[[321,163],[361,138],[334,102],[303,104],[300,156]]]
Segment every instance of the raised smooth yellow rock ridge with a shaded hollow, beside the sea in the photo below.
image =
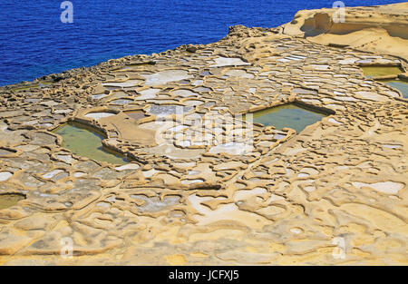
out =
[[346,7],[344,21],[338,9],[303,10],[283,24],[284,34],[317,44],[390,54],[408,60],[408,2]]

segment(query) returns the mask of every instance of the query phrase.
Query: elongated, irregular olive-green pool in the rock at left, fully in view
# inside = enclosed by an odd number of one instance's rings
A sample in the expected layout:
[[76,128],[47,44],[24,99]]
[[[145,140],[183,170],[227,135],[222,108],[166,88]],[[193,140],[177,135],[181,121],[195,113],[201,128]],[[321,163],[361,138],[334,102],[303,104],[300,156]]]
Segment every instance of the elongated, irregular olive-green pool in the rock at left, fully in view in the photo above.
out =
[[117,153],[107,151],[102,146],[102,133],[91,127],[79,123],[66,123],[53,131],[63,137],[63,147],[71,150],[75,155],[87,157],[99,162],[112,164],[126,164],[126,158]]

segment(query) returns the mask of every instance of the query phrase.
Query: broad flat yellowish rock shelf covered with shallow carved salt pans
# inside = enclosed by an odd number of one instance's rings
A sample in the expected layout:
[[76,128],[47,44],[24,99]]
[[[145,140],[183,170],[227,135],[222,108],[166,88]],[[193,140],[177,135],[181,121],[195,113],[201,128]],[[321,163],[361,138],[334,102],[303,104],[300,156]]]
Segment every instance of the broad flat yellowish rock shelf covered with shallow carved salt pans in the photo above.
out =
[[0,264],[408,264],[406,62],[284,32],[0,88]]

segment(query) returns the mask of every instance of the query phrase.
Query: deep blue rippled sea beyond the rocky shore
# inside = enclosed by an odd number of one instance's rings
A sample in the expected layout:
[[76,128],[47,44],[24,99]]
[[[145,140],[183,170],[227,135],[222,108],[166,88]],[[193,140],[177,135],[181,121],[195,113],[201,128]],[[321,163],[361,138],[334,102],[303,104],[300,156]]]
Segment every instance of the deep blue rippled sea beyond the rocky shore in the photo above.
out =
[[61,23],[62,2],[1,0],[0,85],[181,44],[209,44],[224,37],[229,25],[274,27],[291,21],[298,10],[331,7],[334,1],[72,0],[73,24]]

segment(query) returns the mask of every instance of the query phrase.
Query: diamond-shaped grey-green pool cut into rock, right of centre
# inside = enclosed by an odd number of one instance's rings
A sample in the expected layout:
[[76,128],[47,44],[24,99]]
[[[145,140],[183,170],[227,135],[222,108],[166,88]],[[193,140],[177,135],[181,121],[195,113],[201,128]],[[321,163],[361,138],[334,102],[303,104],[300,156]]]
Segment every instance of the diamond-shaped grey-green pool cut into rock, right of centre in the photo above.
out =
[[[292,128],[296,132],[301,132],[307,125],[320,121],[327,114],[317,113],[301,107],[295,103],[287,103],[258,111],[253,114],[253,122],[261,123],[265,126],[273,125],[277,129],[285,127]],[[248,116],[244,117],[248,121]]]

